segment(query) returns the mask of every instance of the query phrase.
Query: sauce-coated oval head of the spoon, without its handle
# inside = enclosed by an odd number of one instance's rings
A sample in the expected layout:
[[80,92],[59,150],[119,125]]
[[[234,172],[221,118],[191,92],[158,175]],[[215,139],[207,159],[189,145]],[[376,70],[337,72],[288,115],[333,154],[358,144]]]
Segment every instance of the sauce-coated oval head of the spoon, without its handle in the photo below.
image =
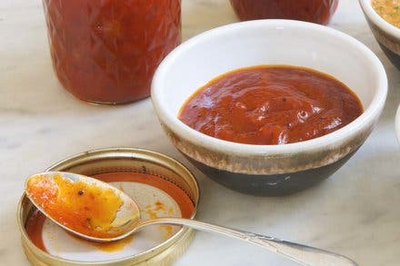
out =
[[38,173],[27,179],[25,192],[53,222],[89,241],[109,241],[140,219],[139,208],[124,192],[84,175]]

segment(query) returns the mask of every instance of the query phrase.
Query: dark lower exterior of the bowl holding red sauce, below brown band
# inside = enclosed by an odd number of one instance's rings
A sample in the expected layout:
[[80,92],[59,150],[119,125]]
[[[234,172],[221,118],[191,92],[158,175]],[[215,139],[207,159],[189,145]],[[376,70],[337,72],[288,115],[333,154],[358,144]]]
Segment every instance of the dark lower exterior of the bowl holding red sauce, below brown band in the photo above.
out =
[[318,182],[322,182],[336,172],[354,153],[349,153],[341,160],[319,168],[302,172],[270,175],[227,172],[207,166],[204,163],[196,162],[187,156],[186,158],[215,182],[236,192],[255,196],[284,196],[301,192]]

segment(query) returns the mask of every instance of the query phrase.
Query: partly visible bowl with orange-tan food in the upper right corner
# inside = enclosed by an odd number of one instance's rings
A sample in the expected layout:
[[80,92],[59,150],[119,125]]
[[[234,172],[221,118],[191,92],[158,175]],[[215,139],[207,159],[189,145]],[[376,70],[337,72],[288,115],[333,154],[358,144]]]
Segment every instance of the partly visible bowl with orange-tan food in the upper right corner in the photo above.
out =
[[400,1],[359,0],[359,3],[376,41],[392,64],[400,69],[400,28],[397,27],[400,23]]

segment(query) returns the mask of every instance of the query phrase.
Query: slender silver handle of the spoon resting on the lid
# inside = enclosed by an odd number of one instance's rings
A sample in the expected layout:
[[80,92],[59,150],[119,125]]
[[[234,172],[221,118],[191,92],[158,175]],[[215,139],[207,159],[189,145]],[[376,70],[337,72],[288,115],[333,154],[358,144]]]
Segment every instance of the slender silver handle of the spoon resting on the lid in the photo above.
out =
[[194,228],[196,230],[205,232],[217,232],[225,236],[233,237],[242,241],[250,242],[252,244],[261,246],[268,251],[281,254],[293,261],[297,261],[303,265],[335,265],[355,266],[357,263],[352,261],[345,256],[336,254],[330,251],[324,251],[313,247],[297,244],[289,241],[282,241],[273,237],[265,236],[262,234],[256,234],[254,232],[245,232],[241,230],[235,230],[212,223],[198,222],[195,220],[189,220],[184,218],[157,218],[154,220],[148,220],[139,222],[136,230],[139,230],[147,225],[153,224],[174,224],[174,225],[185,225],[187,227]]

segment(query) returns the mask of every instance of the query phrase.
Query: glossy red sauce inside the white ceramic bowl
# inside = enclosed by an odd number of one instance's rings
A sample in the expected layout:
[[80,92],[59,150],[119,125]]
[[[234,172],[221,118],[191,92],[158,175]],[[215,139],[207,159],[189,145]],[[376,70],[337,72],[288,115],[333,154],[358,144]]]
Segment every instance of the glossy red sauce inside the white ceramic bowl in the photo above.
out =
[[216,77],[186,101],[178,117],[221,140],[285,144],[332,133],[361,113],[357,96],[332,76],[261,65]]

